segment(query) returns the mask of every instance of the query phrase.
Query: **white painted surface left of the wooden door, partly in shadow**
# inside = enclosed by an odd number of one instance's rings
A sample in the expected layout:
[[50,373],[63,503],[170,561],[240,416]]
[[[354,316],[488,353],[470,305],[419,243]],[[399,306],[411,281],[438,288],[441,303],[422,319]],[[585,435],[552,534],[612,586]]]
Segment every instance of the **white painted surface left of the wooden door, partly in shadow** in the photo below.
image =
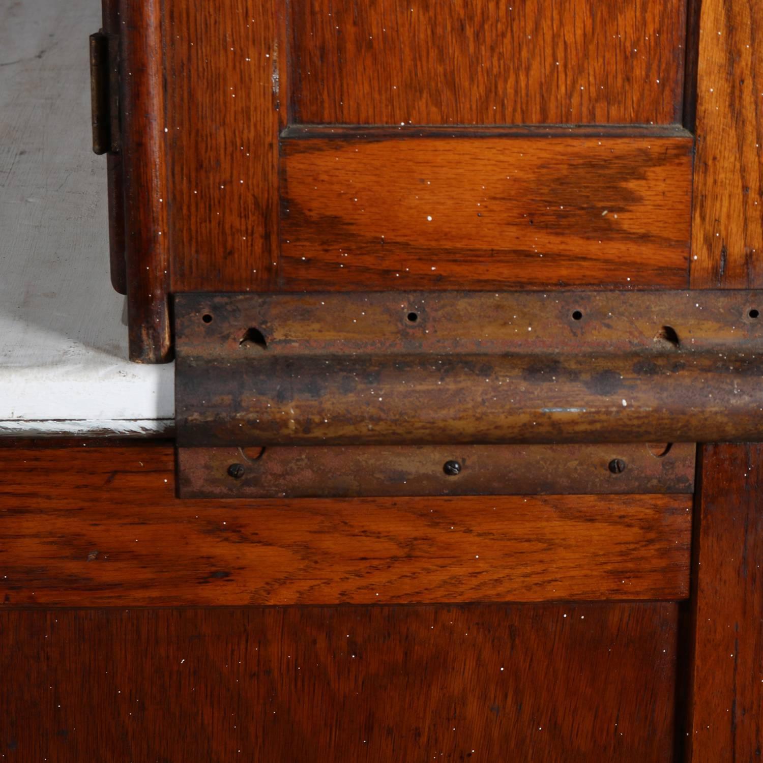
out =
[[171,365],[127,361],[90,137],[99,0],[0,0],[0,433],[145,433]]

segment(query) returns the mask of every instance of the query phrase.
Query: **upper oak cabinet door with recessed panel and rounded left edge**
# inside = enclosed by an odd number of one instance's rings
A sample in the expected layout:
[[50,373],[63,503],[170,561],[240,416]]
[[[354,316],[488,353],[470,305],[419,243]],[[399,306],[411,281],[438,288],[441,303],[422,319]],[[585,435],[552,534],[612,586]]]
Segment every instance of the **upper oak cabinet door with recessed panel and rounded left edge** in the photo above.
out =
[[688,285],[685,0],[120,18],[135,359],[182,291]]

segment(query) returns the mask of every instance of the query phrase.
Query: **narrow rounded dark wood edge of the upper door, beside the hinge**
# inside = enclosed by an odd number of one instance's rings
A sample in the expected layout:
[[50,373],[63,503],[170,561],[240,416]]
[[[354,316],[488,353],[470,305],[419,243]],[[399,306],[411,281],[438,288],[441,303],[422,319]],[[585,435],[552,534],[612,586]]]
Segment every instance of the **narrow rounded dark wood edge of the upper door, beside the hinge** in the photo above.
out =
[[172,358],[161,0],[121,0],[122,172],[130,359]]

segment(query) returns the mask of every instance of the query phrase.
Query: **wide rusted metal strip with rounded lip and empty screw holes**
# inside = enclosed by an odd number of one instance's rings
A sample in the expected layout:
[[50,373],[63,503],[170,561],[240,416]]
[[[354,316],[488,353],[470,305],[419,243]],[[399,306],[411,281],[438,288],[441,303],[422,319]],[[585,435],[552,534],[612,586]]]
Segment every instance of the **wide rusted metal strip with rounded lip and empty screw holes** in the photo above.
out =
[[175,299],[179,446],[763,439],[757,291]]

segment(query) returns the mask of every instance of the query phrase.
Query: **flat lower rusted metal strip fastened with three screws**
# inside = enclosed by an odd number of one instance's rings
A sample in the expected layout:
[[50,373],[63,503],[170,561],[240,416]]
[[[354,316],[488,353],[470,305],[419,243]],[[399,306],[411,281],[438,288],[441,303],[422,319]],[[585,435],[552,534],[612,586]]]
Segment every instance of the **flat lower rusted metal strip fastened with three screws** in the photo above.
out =
[[694,445],[180,448],[183,498],[691,493]]

